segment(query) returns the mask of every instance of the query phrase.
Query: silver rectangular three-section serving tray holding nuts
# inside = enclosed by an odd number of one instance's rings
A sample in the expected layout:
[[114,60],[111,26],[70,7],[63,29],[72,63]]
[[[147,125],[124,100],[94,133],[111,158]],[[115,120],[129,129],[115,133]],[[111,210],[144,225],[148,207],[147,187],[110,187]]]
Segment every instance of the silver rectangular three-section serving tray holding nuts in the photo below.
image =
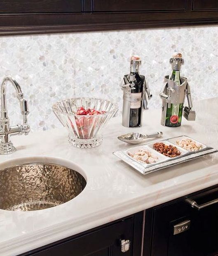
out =
[[[178,145],[176,145],[177,140],[181,140],[181,139],[185,139],[185,138],[191,139],[192,141],[195,141],[195,142],[201,144],[202,149],[190,152],[190,151],[185,150],[184,148],[180,148]],[[162,155],[161,153],[159,153],[155,149],[153,149],[153,144],[156,142],[163,142],[164,144],[167,144],[167,145],[171,144],[173,146],[176,146],[178,148],[178,150],[181,152],[181,155],[179,155],[177,157],[172,157],[172,158]],[[129,156],[128,152],[134,153],[134,151],[136,152],[140,148],[149,150],[152,153],[152,155],[156,155],[159,158],[159,161],[155,162],[153,164],[146,164],[146,163],[138,162],[137,160],[135,160],[134,158]],[[209,155],[209,154],[213,154],[216,152],[218,152],[217,149],[206,146],[204,143],[201,143],[195,139],[192,139],[189,136],[183,135],[183,136],[176,136],[176,137],[172,137],[169,139],[155,141],[153,143],[143,144],[141,146],[129,148],[126,150],[118,150],[118,151],[113,152],[113,154],[115,156],[119,157],[121,160],[123,160],[127,164],[129,164],[131,167],[133,167],[137,171],[141,172],[142,174],[149,174],[153,171],[158,171],[160,169],[164,169],[166,167],[171,167],[176,164],[188,162],[192,159],[196,159],[196,158],[202,157],[204,155]]]

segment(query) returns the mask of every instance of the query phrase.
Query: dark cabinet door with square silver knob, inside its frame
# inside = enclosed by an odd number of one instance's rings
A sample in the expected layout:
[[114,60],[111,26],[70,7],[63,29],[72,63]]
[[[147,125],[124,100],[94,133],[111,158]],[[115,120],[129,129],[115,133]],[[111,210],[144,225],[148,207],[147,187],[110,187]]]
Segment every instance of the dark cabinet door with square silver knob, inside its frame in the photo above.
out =
[[42,250],[32,256],[131,256],[132,247],[125,254],[121,251],[121,241],[132,242],[133,219],[125,219],[100,230],[82,235],[73,240]]

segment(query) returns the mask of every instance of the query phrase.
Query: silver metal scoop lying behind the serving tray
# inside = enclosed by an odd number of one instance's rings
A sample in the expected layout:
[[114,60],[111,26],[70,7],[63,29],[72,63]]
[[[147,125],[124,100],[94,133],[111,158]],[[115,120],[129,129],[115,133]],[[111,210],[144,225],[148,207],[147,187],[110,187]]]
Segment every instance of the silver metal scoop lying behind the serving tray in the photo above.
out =
[[155,132],[152,134],[141,134],[138,132],[130,132],[127,134],[123,134],[117,137],[117,139],[119,139],[120,141],[124,141],[126,143],[131,143],[131,144],[138,144],[143,142],[144,139],[148,139],[148,138],[159,138],[162,136],[162,132]]

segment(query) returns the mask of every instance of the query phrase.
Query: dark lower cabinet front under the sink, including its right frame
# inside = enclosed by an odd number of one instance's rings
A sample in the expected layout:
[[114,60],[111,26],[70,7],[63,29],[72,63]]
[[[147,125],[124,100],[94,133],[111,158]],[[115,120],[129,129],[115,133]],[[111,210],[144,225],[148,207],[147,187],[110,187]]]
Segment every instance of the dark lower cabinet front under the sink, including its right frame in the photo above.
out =
[[[140,212],[22,256],[140,256],[142,230],[143,212]],[[125,254],[121,250],[121,240],[130,241]]]

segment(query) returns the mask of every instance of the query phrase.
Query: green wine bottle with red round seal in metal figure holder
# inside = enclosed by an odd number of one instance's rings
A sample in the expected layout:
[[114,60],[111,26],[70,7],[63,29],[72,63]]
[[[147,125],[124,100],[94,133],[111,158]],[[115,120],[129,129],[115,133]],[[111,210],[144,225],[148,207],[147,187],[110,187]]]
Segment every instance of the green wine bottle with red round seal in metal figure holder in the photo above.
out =
[[[173,72],[171,74],[170,80],[173,80],[178,86],[181,85],[180,79],[180,66],[182,54],[176,52],[173,54],[172,67]],[[168,103],[169,104],[169,103]],[[167,104],[166,110],[166,126],[178,127],[181,125],[182,114],[183,114],[183,103],[171,103],[171,106]]]

